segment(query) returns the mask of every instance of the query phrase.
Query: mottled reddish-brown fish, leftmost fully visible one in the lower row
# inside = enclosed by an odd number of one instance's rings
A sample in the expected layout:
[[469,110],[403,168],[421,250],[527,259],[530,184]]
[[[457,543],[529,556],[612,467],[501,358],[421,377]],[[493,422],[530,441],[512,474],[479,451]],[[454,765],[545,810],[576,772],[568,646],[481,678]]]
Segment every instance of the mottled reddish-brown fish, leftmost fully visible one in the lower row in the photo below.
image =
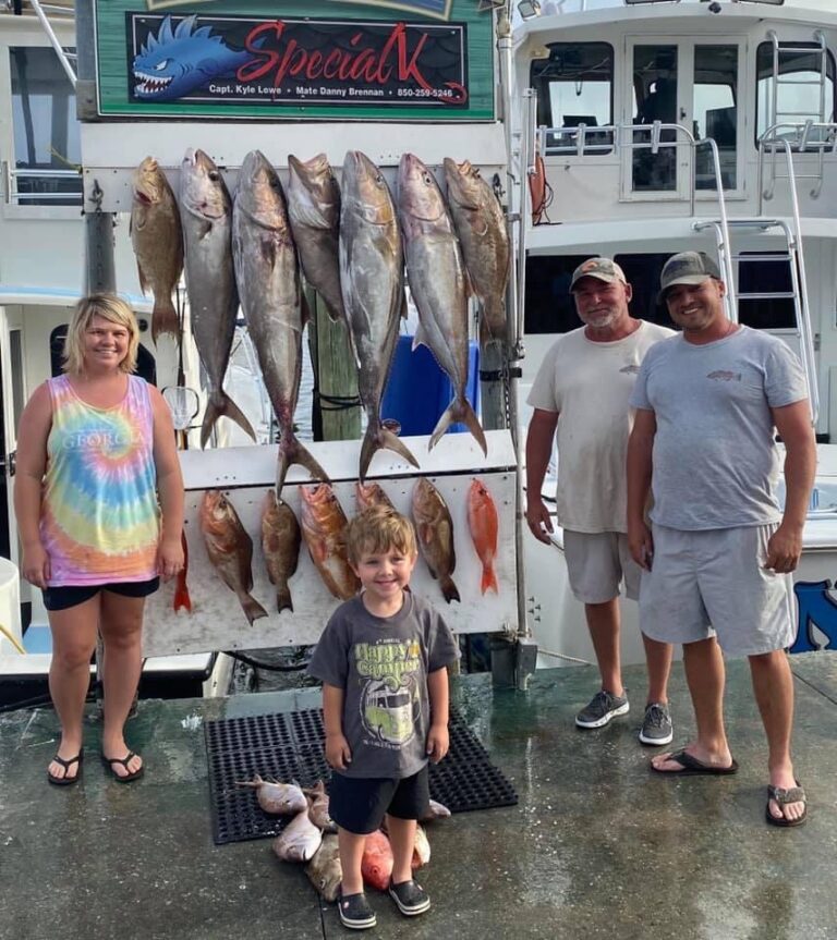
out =
[[253,588],[253,540],[241,524],[235,508],[220,490],[208,489],[201,502],[201,532],[213,567],[235,591],[250,624],[267,611],[250,594]]

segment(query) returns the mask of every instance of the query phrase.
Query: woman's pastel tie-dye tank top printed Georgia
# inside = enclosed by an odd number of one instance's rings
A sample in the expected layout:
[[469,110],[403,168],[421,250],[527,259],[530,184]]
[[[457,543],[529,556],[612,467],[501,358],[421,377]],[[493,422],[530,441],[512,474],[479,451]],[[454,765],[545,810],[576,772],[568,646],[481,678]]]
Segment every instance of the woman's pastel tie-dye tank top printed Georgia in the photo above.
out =
[[66,376],[47,384],[52,428],[40,537],[50,587],[155,577],[160,511],[145,380],[129,376],[128,394],[110,408],[82,401]]

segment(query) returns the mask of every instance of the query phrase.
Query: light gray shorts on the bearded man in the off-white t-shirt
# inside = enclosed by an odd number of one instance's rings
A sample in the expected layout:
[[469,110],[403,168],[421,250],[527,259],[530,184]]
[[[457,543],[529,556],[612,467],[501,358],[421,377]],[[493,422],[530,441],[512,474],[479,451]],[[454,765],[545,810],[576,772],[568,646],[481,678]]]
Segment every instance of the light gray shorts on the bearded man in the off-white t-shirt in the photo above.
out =
[[582,603],[605,603],[619,597],[619,583],[632,600],[640,596],[642,569],[631,558],[621,532],[563,530],[563,553],[572,593]]

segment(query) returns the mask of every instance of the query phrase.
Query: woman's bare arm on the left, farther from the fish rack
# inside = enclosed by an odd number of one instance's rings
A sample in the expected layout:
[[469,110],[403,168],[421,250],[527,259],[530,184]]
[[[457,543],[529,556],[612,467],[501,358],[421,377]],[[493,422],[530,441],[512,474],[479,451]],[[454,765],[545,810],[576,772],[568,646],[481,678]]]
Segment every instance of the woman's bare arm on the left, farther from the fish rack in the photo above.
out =
[[40,541],[40,503],[47,469],[47,439],[52,427],[52,402],[46,383],[39,386],[21,415],[14,474],[14,514],[21,537],[21,574],[35,587],[46,587],[49,556]]

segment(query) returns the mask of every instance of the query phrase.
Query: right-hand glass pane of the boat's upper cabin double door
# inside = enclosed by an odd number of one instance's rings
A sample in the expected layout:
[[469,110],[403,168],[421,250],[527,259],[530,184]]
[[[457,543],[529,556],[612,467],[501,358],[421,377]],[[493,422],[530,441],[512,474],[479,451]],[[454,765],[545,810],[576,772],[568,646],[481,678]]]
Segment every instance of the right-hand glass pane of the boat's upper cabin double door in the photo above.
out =
[[[725,190],[735,190],[737,186],[737,105],[738,46],[695,46],[692,133],[695,141],[712,137],[717,144]],[[706,147],[699,147],[695,160],[695,187],[716,190],[711,151]]]

